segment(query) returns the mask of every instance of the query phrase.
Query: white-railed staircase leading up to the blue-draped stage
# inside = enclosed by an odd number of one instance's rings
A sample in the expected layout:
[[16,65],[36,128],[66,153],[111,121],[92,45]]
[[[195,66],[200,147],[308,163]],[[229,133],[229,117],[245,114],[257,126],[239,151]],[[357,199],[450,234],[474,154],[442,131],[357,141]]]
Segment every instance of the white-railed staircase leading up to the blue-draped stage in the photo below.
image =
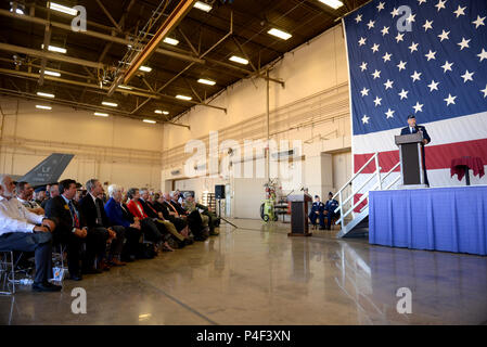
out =
[[[357,182],[357,178],[364,171],[364,169],[371,164],[375,164],[375,170],[370,174],[369,178],[356,187],[354,182]],[[335,214],[339,211],[339,219],[335,224],[342,227],[337,237],[360,237],[369,233],[369,192],[374,190],[390,190],[395,188],[396,183],[400,180],[400,176],[394,179],[388,184],[385,180],[393,174],[400,165],[397,163],[388,172],[381,172],[382,168],[379,166],[379,153],[375,153],[361,168],[358,170],[351,179],[342,187],[342,189],[333,196],[338,201],[338,207],[335,209]],[[382,174],[382,175],[381,175]],[[375,183],[371,189],[362,191],[369,182],[375,180]],[[351,191],[348,195],[347,191]],[[354,203],[354,196],[357,194],[363,194],[360,198]],[[366,204],[360,207],[360,210],[356,210],[363,202]]]

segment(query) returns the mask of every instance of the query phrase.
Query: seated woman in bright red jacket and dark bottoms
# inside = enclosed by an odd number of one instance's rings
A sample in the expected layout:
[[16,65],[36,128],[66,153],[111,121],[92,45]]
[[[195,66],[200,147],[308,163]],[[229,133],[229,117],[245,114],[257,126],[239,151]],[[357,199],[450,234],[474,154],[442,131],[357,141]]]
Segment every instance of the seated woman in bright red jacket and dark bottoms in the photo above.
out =
[[[140,220],[140,224],[142,227],[142,233],[149,241],[152,241],[155,246],[155,250],[159,247],[163,250],[175,250],[167,243],[167,240],[170,237],[170,234],[166,232],[164,224],[155,223],[154,220],[148,217],[144,213],[144,209],[139,201],[140,193],[137,188],[130,188],[127,192],[127,196],[130,200],[127,204],[127,208],[129,211]],[[162,244],[162,246],[161,246]]]

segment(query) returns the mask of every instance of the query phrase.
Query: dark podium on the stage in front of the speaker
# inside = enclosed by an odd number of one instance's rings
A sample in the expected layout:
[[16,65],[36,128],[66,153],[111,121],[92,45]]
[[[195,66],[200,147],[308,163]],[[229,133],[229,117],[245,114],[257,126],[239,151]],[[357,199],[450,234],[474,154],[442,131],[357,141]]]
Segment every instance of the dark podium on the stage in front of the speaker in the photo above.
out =
[[401,188],[428,188],[423,167],[423,133],[396,137],[399,146]]

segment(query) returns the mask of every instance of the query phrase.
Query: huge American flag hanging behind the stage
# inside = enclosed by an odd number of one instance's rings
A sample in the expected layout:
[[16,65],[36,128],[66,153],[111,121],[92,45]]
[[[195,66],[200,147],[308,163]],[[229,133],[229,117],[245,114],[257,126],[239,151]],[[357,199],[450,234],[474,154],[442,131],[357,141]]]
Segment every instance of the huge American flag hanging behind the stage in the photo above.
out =
[[[487,165],[487,1],[374,0],[344,26],[355,171],[375,152],[383,171],[394,167],[394,136],[414,114],[432,138],[430,184],[465,184],[450,177],[452,158]],[[472,183],[486,184],[487,176]]]

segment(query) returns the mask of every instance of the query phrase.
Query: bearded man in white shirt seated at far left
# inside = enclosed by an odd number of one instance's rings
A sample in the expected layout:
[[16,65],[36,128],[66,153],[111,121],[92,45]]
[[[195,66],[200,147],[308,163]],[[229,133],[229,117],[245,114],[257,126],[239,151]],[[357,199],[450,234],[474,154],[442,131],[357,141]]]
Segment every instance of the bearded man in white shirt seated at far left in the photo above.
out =
[[0,176],[0,248],[34,252],[36,277],[34,292],[59,292],[52,279],[52,231],[55,223],[28,211],[14,197],[15,184],[9,176]]

